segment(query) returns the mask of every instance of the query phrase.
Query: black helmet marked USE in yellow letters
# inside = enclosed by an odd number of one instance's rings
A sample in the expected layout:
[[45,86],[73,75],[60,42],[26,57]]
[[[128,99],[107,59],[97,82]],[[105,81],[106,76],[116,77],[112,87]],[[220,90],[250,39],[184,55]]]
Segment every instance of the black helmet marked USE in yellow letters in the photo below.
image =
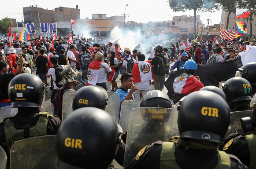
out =
[[45,101],[45,86],[30,73],[15,76],[8,88],[11,107],[41,107]]

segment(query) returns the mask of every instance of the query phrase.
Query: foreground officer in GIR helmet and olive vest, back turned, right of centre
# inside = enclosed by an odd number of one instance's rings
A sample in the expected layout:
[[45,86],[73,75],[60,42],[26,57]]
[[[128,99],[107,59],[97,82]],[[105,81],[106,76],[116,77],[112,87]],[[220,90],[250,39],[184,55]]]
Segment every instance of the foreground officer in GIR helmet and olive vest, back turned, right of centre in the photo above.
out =
[[179,107],[180,138],[144,147],[126,169],[246,169],[234,155],[218,151],[229,124],[223,97],[210,91],[190,93]]

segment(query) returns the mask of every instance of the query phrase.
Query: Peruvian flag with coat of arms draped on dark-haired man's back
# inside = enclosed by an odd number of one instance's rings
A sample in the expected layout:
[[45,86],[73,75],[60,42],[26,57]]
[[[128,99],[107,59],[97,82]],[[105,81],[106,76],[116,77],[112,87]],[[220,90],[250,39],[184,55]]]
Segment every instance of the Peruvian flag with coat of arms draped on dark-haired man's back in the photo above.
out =
[[134,82],[144,82],[154,79],[152,69],[148,62],[138,61],[134,64],[132,74]]

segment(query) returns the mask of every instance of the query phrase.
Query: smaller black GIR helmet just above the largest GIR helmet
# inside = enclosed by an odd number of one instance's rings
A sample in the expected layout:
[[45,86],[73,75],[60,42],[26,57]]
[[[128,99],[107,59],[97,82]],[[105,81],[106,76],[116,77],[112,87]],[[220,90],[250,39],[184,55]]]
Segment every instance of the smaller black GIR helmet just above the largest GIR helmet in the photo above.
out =
[[73,99],[73,110],[81,107],[96,107],[102,110],[106,109],[108,104],[108,93],[100,86],[84,86],[80,88]]

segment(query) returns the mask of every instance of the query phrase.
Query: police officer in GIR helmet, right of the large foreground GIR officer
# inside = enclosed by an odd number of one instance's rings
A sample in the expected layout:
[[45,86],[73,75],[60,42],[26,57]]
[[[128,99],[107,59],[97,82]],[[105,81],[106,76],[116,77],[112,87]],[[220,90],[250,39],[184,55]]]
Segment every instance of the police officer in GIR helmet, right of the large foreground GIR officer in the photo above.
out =
[[252,86],[245,78],[232,77],[222,84],[222,88],[231,112],[252,110]]

